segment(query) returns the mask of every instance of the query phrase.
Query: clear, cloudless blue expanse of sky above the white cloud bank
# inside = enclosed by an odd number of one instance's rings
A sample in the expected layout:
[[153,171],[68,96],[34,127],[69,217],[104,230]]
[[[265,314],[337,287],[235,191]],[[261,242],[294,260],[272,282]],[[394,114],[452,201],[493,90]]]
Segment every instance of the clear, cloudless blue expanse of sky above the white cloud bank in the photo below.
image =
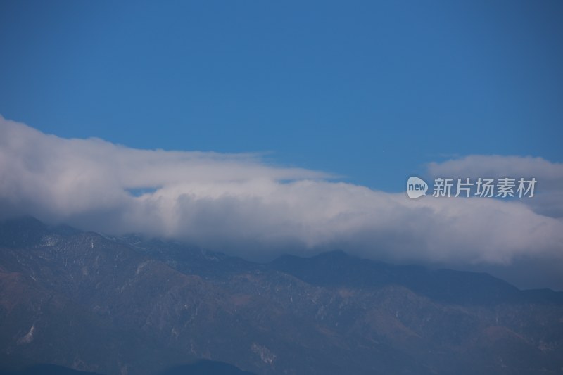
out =
[[3,1],[0,114],[400,191],[456,155],[563,161],[562,19],[561,1]]

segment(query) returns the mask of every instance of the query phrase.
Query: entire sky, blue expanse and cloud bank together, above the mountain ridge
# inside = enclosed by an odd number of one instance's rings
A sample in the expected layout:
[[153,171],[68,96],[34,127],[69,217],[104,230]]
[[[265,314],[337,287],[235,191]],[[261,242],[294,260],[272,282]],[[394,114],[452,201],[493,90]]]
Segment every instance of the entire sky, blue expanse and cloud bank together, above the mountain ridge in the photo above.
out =
[[[562,19],[561,1],[2,1],[0,219],[563,290]],[[411,174],[538,185],[411,200]]]

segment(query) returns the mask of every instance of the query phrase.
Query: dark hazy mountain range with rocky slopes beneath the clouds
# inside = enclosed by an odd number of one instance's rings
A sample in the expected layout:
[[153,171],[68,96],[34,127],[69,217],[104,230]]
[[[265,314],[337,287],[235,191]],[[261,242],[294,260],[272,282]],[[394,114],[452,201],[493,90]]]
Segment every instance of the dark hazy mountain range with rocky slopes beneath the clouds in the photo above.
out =
[[28,217],[0,224],[0,352],[6,371],[560,374],[563,293],[342,252],[261,265]]

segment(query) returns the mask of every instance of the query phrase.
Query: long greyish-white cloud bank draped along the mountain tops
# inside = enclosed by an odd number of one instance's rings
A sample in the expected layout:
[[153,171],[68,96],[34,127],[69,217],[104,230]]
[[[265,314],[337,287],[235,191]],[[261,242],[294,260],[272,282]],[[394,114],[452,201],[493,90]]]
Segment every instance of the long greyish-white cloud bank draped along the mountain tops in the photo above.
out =
[[260,258],[341,248],[366,258],[449,265],[562,259],[562,165],[469,156],[432,163],[429,175],[536,177],[537,197],[410,200],[323,172],[267,165],[257,155],[63,139],[0,117],[2,217],[33,215]]

